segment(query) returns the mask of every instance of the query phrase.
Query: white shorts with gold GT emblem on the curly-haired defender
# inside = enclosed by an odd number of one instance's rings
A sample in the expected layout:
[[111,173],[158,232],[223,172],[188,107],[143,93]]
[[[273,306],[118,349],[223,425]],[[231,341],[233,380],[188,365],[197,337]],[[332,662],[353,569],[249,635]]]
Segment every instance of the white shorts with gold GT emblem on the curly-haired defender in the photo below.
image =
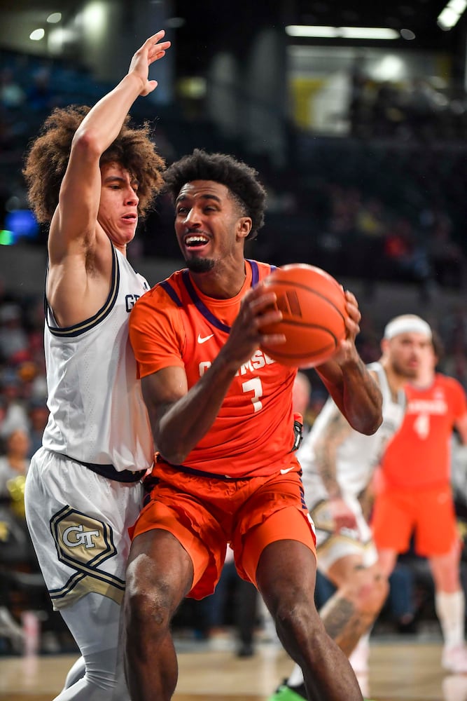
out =
[[128,528],[141,509],[141,482],[117,482],[40,448],[25,489],[26,519],[53,607],[88,592],[121,603]]

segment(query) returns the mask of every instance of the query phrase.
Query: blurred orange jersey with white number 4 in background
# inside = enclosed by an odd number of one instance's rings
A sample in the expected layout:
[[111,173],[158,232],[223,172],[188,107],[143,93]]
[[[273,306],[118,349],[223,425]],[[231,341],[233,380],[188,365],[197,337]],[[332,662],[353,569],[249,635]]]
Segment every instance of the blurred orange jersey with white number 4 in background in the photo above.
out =
[[382,468],[388,486],[403,489],[447,484],[449,444],[457,418],[467,412],[466,393],[452,377],[436,374],[431,387],[408,384],[407,411],[389,442]]

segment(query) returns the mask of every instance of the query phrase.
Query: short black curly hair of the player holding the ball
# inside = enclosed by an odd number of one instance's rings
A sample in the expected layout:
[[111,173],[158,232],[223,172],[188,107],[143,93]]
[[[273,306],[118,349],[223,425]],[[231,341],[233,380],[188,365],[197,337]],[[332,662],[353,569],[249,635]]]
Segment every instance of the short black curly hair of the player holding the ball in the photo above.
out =
[[225,185],[245,215],[251,217],[247,239],[256,238],[264,224],[266,191],[257,176],[256,170],[233,156],[207,154],[202,149],[172,163],[163,175],[172,200],[176,200],[184,184],[193,180],[213,180]]

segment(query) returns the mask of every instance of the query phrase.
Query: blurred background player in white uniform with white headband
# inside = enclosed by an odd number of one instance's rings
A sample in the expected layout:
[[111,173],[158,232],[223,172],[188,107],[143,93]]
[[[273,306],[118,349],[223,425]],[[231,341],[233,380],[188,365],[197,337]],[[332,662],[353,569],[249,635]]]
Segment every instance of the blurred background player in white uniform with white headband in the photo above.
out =
[[[431,338],[428,324],[415,315],[396,317],[386,329],[394,328],[391,324],[396,325],[391,343],[385,332],[382,358],[368,365],[383,398],[383,421],[377,432],[364,436],[354,431],[329,398],[298,451],[305,501],[316,528],[318,569],[336,587],[320,615],[331,637],[354,662],[357,674],[361,669],[356,665],[360,661],[356,660],[356,646],[361,641],[365,662],[369,631],[388,592],[360,497],[386,442],[402,423],[406,403],[403,386],[417,372],[417,352],[414,355],[412,346],[403,342],[404,334],[410,332],[423,341]],[[365,685],[361,676],[359,681]],[[307,698],[303,676],[295,665],[270,701],[303,698]]]

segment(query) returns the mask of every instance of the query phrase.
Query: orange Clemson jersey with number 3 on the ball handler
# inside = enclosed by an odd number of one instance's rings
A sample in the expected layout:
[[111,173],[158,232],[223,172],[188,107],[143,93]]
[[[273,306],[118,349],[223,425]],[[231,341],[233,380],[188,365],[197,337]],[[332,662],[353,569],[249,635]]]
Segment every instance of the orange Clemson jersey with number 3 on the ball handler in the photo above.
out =
[[[245,283],[231,299],[206,297],[185,269],[137,301],[130,315],[130,340],[139,376],[184,367],[188,388],[193,387],[227,340],[246,291],[272,269],[256,261],[245,265]],[[237,372],[216,421],[183,467],[235,478],[298,469],[291,452],[295,373],[256,351]]]

